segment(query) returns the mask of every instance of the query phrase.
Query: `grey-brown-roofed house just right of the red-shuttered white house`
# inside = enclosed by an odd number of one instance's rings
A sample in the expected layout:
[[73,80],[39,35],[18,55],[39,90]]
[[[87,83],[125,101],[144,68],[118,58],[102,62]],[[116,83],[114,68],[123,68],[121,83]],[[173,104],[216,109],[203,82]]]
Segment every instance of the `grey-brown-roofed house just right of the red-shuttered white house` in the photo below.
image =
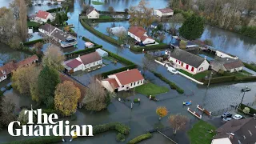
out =
[[239,59],[215,57],[214,61],[210,62],[210,67],[216,72],[223,70],[233,73],[242,70],[244,65]]

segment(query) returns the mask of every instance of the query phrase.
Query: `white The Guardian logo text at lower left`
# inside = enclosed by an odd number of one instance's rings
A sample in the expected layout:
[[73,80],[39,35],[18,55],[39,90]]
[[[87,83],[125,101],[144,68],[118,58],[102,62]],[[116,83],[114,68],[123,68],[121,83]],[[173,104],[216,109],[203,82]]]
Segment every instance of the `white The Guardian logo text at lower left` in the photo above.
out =
[[[8,133],[12,136],[50,136],[50,131],[54,136],[94,136],[93,126],[91,125],[72,125],[70,126],[69,121],[65,121],[65,126],[63,121],[54,122],[53,120],[58,120],[57,114],[42,114],[42,109],[38,110],[25,110],[25,114],[28,115],[27,125],[21,126],[21,122],[14,121],[10,122],[8,125]],[[34,125],[33,117],[34,114],[37,115],[38,122]],[[42,122],[43,118],[43,122]],[[17,123],[21,128],[15,128],[14,124]],[[65,127],[65,133],[63,130]],[[71,130],[71,131],[70,131]],[[88,135],[86,134],[88,130]],[[82,134],[81,134],[82,133]]]

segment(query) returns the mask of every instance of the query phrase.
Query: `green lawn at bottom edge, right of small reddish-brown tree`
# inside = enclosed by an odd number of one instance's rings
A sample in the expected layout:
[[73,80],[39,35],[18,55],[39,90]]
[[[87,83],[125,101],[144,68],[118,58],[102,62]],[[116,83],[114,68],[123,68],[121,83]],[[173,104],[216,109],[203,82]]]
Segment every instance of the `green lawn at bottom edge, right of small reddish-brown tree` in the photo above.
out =
[[215,132],[210,133],[210,130],[216,130],[215,126],[210,125],[208,122],[200,120],[192,129],[190,129],[187,134],[190,138],[191,144],[202,144],[210,143],[215,135]]

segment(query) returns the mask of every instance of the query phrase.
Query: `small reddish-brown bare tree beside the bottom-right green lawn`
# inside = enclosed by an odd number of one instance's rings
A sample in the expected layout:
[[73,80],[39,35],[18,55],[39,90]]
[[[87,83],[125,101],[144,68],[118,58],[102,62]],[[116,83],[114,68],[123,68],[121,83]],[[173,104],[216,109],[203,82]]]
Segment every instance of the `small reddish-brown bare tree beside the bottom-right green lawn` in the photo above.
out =
[[178,130],[184,130],[186,128],[186,123],[188,122],[188,118],[186,118],[185,115],[176,114],[176,115],[170,115],[170,117],[168,118],[168,121],[170,122],[170,126],[174,130],[174,134],[176,134]]

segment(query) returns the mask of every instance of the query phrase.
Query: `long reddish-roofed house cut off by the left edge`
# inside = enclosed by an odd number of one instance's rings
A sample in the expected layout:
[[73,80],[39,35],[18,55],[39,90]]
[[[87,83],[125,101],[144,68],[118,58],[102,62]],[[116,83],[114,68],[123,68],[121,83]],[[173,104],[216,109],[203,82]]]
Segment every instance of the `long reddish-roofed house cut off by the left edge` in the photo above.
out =
[[30,66],[31,64],[37,61],[38,61],[38,56],[34,54],[30,58],[26,58],[18,63],[14,63],[14,62],[6,63],[4,66],[0,67],[0,82],[5,80],[13,70],[17,70],[19,67],[23,67],[23,66]]

